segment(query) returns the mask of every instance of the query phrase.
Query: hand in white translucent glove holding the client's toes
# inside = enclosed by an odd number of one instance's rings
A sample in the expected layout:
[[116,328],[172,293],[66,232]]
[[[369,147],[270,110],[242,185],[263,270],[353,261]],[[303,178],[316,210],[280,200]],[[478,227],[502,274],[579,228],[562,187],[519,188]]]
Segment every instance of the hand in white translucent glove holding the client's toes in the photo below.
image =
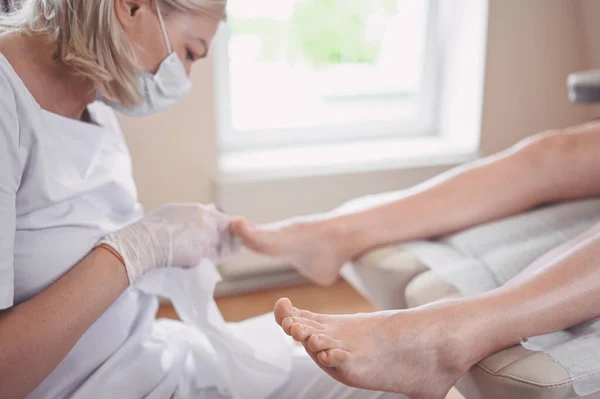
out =
[[98,245],[108,245],[121,255],[132,285],[155,268],[191,268],[203,259],[216,263],[235,253],[241,243],[229,224],[214,205],[170,204],[107,235]]

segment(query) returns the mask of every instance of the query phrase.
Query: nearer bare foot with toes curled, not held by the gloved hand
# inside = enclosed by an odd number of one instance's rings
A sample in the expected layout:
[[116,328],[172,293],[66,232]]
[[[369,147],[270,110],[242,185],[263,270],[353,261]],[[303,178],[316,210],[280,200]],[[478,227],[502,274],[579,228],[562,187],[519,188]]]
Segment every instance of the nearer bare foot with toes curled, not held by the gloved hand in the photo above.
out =
[[457,331],[432,308],[329,316],[284,298],[275,318],[324,371],[356,388],[442,399],[471,366]]

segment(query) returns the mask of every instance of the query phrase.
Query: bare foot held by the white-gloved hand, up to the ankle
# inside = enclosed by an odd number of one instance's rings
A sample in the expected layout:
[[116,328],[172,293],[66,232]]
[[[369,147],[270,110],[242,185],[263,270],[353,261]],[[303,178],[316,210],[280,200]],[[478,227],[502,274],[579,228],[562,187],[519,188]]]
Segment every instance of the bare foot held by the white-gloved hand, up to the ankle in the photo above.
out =
[[249,249],[282,259],[319,285],[331,285],[339,270],[353,254],[340,229],[329,220],[290,220],[253,226],[246,219],[232,223],[233,233]]

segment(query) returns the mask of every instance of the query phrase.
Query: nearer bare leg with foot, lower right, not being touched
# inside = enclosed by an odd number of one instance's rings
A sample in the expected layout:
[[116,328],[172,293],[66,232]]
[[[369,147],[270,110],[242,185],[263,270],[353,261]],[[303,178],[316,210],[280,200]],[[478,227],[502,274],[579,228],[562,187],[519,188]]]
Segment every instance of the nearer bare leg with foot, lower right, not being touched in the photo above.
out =
[[275,314],[337,380],[413,399],[442,398],[487,355],[600,316],[598,253],[600,225],[478,297],[353,316],[312,314],[282,299]]

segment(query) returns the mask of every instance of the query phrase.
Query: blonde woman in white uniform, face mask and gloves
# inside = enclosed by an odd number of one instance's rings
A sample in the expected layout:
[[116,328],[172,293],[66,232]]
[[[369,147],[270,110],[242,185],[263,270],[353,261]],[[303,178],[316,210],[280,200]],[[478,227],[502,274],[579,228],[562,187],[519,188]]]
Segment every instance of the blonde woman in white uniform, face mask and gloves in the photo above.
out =
[[[111,110],[183,97],[225,0],[20,3],[0,19],[0,397],[229,397],[199,383],[213,374],[182,328],[155,325],[157,299],[128,288],[231,253],[229,221],[197,204],[143,217]],[[305,354],[272,397],[333,392],[398,397],[346,388]]]

